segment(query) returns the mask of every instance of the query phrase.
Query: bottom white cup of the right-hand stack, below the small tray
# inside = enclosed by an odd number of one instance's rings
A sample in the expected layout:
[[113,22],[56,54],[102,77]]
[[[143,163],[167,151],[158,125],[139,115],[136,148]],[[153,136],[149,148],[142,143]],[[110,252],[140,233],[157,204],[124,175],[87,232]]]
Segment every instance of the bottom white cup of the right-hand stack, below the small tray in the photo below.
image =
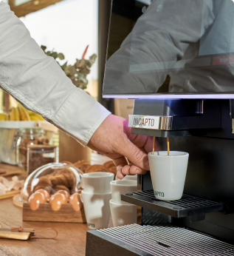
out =
[[110,200],[113,226],[123,226],[137,223],[137,206],[134,204],[115,203]]

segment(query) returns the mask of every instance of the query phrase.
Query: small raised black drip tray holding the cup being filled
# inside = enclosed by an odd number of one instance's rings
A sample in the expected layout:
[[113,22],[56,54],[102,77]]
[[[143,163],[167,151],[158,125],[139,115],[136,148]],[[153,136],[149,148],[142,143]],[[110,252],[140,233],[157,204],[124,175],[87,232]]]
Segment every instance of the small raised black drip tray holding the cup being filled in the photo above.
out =
[[175,218],[190,216],[191,221],[204,220],[206,213],[224,210],[224,203],[217,203],[190,195],[183,195],[181,199],[176,201],[159,201],[154,197],[153,190],[122,194],[121,199]]

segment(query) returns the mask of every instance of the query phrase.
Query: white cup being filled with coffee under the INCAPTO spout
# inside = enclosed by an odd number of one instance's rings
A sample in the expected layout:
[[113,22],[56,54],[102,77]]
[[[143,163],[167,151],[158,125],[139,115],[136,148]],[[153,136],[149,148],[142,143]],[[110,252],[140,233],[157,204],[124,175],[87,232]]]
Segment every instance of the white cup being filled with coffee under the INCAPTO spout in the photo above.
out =
[[159,200],[182,198],[187,172],[188,153],[179,151],[150,152],[148,161],[154,195]]

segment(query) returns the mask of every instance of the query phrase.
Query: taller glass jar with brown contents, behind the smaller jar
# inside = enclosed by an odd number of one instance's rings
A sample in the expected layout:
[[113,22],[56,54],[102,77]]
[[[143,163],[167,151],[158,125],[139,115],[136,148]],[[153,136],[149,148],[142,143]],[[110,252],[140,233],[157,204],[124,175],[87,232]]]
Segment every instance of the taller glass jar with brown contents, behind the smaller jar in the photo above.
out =
[[33,147],[38,145],[41,145],[42,148],[43,146],[44,147],[49,146],[49,140],[44,137],[44,130],[42,128],[19,129],[19,137],[16,144],[16,162],[21,169],[25,171],[29,169],[27,168],[27,164],[29,164],[28,157],[27,157],[28,146]]

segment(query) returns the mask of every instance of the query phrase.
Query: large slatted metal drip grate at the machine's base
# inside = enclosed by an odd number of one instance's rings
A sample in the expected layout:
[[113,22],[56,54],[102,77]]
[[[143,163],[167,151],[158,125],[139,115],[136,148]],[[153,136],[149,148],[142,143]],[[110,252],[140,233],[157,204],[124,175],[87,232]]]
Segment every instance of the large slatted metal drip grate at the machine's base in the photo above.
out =
[[[234,246],[209,235],[179,228],[171,224],[140,226],[132,224],[96,231],[106,235],[131,252],[140,250],[136,255],[156,256],[234,256]],[[114,238],[114,240],[113,240]],[[108,255],[103,252],[103,255]],[[111,254],[110,254],[111,255]]]

